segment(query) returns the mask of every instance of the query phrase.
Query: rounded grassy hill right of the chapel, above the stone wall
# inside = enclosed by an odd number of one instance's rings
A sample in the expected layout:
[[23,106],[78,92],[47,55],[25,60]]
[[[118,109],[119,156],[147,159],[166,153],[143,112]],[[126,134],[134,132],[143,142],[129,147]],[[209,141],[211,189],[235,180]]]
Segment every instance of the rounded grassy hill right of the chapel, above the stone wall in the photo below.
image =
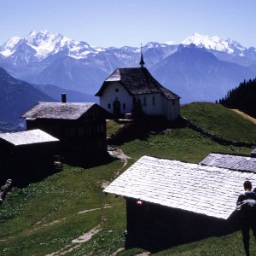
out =
[[183,105],[181,115],[226,139],[256,143],[256,125],[220,104],[195,102]]

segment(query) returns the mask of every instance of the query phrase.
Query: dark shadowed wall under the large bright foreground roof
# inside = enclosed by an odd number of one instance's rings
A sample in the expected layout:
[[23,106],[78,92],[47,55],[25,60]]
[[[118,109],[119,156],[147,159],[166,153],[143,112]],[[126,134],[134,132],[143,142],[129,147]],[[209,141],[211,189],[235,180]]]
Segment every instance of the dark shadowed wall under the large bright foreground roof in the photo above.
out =
[[125,247],[144,247],[155,252],[237,229],[236,222],[125,197]]

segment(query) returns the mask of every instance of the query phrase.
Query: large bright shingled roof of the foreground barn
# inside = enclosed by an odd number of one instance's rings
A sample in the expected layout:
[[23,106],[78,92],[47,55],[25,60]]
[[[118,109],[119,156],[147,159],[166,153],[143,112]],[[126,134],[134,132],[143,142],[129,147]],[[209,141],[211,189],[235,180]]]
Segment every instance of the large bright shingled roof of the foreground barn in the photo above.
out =
[[143,156],[104,192],[227,219],[246,178],[256,185],[253,172]]

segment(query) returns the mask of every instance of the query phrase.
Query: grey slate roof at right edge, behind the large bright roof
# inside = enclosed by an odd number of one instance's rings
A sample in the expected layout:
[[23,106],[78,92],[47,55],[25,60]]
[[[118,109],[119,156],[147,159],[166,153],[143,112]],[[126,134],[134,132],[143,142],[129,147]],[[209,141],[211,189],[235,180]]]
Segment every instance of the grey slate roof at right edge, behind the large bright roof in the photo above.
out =
[[256,158],[249,156],[212,153],[208,154],[200,164],[256,173]]

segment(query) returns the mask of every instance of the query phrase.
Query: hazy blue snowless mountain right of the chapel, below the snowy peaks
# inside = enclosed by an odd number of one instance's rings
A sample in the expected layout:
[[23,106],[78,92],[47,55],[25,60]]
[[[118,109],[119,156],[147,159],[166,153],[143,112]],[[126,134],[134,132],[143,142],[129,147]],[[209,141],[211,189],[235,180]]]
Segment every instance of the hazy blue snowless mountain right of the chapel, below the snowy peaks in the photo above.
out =
[[[243,79],[256,75],[247,67],[220,61],[205,48],[195,44],[179,47],[177,52],[152,67],[152,74],[164,86],[172,88],[183,102],[213,102],[238,85]],[[236,84],[236,85],[235,85]],[[234,86],[235,85],[235,86]]]

